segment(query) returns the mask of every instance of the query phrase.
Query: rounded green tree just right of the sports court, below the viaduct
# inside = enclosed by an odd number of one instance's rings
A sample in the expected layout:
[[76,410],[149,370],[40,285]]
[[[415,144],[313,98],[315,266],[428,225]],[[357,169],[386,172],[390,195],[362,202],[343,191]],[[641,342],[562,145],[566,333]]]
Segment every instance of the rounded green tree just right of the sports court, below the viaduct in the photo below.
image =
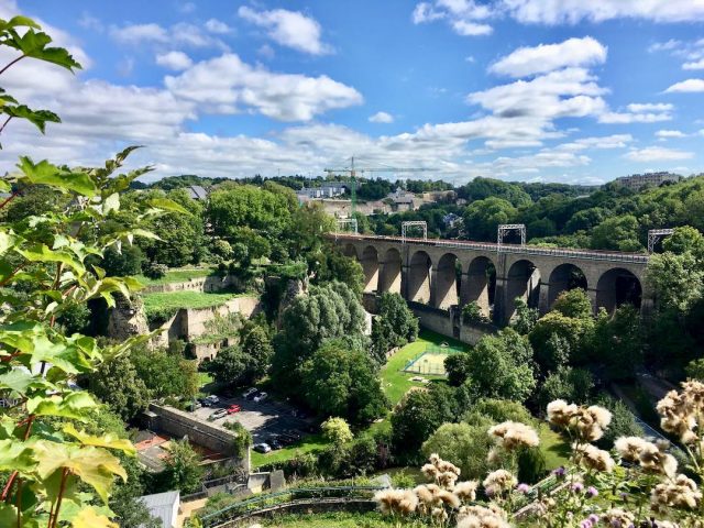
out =
[[486,336],[466,354],[466,371],[479,394],[524,402],[536,387],[528,339],[507,328]]

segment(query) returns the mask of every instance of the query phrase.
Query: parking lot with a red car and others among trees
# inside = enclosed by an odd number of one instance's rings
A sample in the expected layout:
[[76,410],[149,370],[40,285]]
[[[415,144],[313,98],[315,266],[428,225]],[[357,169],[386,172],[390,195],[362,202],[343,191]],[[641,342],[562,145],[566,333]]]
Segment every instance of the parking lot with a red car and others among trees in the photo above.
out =
[[201,407],[195,414],[206,420],[217,409],[228,408],[237,404],[241,410],[232,415],[215,420],[213,424],[222,425],[226,421],[239,421],[252,433],[254,443],[266,442],[272,435],[280,435],[287,430],[296,430],[301,436],[308,435],[312,420],[300,419],[294,416],[295,407],[271,399],[255,403],[243,397],[220,397],[220,403],[213,407]]

